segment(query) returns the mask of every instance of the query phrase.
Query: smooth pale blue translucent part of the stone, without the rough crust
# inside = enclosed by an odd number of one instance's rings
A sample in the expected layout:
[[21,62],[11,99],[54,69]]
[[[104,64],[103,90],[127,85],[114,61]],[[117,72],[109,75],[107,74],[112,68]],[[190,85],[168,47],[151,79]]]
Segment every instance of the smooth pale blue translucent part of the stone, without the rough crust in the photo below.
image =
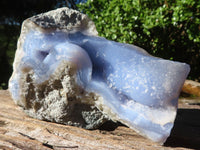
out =
[[[78,66],[77,84],[101,95],[119,121],[156,142],[169,136],[189,65],[81,32],[31,30],[23,51],[19,72],[32,68],[37,84],[48,80],[63,60],[72,62]],[[19,80],[16,75],[10,81],[14,99],[19,98]]]

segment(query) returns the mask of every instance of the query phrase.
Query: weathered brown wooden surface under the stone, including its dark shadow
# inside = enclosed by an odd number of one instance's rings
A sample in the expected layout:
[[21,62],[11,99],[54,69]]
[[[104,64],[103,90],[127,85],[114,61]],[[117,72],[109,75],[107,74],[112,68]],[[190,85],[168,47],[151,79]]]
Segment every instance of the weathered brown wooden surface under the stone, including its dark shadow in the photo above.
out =
[[161,146],[125,126],[85,130],[30,118],[14,104],[7,90],[0,90],[0,149],[200,149],[200,100],[180,100],[174,128]]

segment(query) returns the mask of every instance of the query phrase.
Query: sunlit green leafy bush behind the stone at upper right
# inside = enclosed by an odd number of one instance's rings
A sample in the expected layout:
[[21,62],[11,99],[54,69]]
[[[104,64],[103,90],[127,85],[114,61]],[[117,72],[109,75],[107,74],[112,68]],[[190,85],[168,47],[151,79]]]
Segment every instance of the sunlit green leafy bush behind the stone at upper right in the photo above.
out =
[[100,36],[186,62],[189,78],[200,80],[200,1],[88,0],[78,7],[95,22]]

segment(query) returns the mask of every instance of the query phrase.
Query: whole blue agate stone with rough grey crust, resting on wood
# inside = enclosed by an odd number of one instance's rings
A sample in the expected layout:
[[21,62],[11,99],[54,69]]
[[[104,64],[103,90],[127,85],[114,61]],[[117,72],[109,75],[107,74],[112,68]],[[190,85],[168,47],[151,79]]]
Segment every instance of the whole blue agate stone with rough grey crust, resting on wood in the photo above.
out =
[[9,90],[34,118],[86,129],[119,121],[162,144],[189,70],[99,37],[86,15],[60,8],[23,22]]

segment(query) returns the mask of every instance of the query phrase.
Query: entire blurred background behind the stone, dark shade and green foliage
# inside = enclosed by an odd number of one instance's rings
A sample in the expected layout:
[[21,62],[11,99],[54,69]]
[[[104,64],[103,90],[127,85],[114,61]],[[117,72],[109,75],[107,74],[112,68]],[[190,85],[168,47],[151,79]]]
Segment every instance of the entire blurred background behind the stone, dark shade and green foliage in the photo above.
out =
[[200,81],[198,0],[1,0],[0,89],[8,88],[23,20],[60,7],[87,14],[100,36],[190,64],[188,78]]

